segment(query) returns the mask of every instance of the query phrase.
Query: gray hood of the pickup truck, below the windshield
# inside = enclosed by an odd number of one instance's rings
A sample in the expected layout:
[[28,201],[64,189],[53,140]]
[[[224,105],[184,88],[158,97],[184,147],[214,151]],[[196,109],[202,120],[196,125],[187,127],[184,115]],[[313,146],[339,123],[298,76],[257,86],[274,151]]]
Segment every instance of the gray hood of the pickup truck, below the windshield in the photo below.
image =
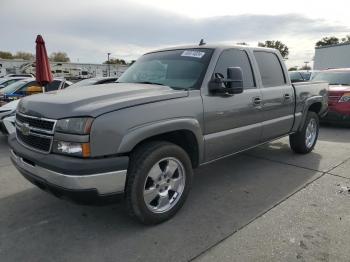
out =
[[67,88],[21,99],[17,110],[37,117],[97,117],[126,107],[188,96],[167,86],[115,83]]

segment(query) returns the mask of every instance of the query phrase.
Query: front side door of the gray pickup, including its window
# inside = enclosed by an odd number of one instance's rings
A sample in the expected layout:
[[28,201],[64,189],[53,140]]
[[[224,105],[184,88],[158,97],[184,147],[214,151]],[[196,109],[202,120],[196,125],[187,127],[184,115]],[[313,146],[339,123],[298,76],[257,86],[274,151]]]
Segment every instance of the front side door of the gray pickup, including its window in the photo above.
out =
[[227,78],[228,67],[240,67],[243,93],[203,95],[206,161],[229,155],[259,143],[261,136],[261,93],[245,50],[222,51],[214,74]]

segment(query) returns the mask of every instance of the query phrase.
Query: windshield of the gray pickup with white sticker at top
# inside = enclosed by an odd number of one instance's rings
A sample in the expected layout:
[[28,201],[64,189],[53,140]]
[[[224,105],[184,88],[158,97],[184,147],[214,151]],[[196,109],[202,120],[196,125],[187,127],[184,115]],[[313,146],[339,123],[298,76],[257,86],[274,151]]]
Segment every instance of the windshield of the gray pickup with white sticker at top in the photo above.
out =
[[213,49],[179,49],[149,53],[139,58],[118,83],[166,85],[173,89],[199,89]]

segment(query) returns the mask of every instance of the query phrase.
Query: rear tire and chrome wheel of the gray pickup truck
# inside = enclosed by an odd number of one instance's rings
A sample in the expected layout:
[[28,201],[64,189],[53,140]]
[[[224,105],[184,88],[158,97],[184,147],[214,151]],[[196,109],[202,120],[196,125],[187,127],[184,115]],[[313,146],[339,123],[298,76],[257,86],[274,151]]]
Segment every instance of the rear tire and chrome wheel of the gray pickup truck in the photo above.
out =
[[310,153],[316,145],[319,129],[318,115],[309,111],[302,128],[298,132],[289,135],[291,149],[298,154]]

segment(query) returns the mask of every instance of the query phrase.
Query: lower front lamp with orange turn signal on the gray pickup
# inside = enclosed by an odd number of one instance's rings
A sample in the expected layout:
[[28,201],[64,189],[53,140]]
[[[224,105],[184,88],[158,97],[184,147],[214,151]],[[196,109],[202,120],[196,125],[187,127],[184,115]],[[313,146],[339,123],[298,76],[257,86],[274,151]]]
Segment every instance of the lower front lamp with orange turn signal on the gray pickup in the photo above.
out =
[[75,143],[55,141],[53,144],[53,151],[58,154],[89,157],[90,156],[90,144],[89,143]]

